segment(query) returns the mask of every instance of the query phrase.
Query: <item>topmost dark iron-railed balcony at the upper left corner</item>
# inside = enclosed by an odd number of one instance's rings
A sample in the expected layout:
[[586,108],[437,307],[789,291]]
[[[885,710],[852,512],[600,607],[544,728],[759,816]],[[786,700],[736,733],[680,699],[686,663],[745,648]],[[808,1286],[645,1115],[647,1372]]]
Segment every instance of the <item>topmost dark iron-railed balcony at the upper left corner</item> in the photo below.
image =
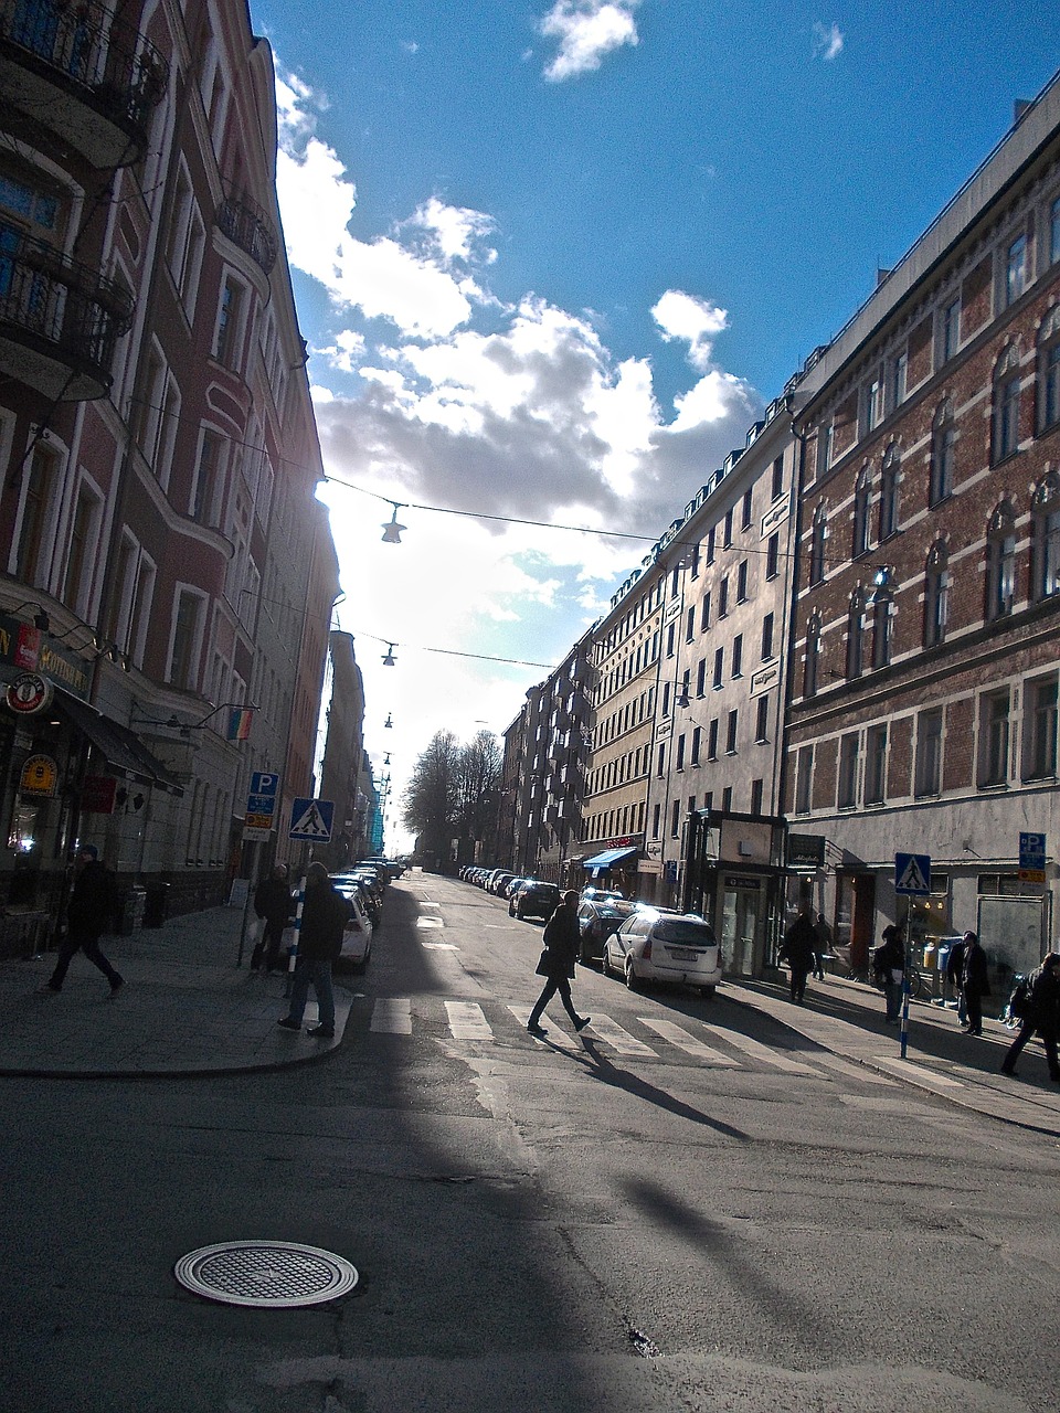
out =
[[151,109],[170,66],[113,11],[92,0],[0,0],[0,89],[92,167],[129,167],[147,148]]

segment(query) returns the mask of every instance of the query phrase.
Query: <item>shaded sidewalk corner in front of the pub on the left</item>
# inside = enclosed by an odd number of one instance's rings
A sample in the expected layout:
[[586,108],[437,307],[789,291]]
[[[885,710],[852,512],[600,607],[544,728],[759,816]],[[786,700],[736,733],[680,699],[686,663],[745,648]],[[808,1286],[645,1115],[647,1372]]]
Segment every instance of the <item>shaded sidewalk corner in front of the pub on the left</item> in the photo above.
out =
[[[0,961],[0,1075],[209,1075],[302,1064],[336,1048],[351,992],[335,988],[334,1040],[280,1029],[284,976],[252,972],[249,947],[236,966],[242,921],[242,909],[215,907],[102,938],[126,982],[113,998],[81,952],[58,995],[44,988],[55,952]],[[315,1019],[310,1000],[304,1024]]]

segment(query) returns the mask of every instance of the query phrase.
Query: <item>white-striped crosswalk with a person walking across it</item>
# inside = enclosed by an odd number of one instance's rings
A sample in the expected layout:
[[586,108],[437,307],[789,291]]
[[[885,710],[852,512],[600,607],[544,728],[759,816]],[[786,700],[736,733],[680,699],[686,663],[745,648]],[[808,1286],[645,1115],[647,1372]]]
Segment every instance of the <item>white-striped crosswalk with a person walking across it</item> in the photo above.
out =
[[594,1012],[591,1024],[581,1036],[571,1031],[565,1019],[563,1023],[546,1020],[548,1034],[541,1041],[526,1033],[530,1006],[496,1003],[488,1015],[486,1007],[475,1000],[440,1003],[432,996],[417,998],[416,1002],[410,996],[362,999],[365,1006],[358,1007],[351,1024],[363,1029],[363,1017],[367,1016],[369,1034],[413,1036],[417,1030],[425,1034],[444,1030],[452,1041],[492,1044],[519,1040],[565,1051],[581,1050],[588,1041],[609,1054],[693,1063],[697,1068],[765,1070],[818,1080],[831,1080],[838,1072],[882,1088],[897,1087],[895,1080],[838,1060],[827,1051],[767,1046],[739,1030],[693,1017],[687,1017],[687,1026],[663,1016],[637,1016],[619,1024],[612,1016]]

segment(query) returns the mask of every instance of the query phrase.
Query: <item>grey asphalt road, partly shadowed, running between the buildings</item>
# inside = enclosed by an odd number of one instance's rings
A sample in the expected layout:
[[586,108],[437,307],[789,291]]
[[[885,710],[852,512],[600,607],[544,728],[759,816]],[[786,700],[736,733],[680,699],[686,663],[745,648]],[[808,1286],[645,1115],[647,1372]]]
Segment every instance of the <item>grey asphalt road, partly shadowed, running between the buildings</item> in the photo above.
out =
[[[346,1043],[211,1080],[0,1081],[0,1407],[18,1413],[1015,1413],[1060,1397],[1060,1146],[808,1048],[719,992],[579,968],[390,889]],[[390,1005],[383,1005],[383,1002]],[[256,1311],[174,1262],[358,1267]]]

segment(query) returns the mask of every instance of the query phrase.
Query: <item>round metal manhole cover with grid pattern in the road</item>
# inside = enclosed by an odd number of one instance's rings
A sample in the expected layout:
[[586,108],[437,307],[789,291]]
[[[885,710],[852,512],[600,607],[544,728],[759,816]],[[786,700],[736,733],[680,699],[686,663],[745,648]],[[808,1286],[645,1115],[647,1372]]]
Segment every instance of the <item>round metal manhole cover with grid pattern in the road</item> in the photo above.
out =
[[288,1310],[345,1296],[358,1273],[342,1256],[290,1241],[226,1241],[201,1246],[174,1266],[182,1286],[228,1306]]

